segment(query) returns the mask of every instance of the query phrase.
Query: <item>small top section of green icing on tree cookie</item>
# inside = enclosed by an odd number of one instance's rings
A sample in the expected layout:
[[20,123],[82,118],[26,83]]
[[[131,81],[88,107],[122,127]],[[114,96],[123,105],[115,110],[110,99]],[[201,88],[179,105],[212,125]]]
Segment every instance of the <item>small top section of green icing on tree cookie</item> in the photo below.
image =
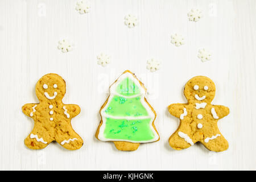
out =
[[115,91],[122,96],[134,96],[140,93],[139,87],[129,77],[123,79],[122,82],[117,85]]

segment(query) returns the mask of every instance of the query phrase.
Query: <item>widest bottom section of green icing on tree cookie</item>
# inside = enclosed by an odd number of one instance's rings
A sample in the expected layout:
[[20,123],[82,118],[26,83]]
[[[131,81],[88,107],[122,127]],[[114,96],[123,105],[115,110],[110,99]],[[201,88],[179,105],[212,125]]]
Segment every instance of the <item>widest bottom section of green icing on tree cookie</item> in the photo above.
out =
[[155,138],[147,119],[112,119],[106,118],[104,137],[109,139],[123,139],[131,141],[146,141]]

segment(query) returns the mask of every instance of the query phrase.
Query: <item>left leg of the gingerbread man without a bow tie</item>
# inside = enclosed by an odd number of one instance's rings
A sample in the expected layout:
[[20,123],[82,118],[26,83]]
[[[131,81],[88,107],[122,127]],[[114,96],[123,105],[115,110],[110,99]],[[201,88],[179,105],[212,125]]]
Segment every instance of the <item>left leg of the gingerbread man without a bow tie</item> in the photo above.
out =
[[46,130],[43,128],[39,130],[35,126],[30,135],[24,140],[24,143],[28,148],[36,150],[45,148],[52,140],[51,135]]

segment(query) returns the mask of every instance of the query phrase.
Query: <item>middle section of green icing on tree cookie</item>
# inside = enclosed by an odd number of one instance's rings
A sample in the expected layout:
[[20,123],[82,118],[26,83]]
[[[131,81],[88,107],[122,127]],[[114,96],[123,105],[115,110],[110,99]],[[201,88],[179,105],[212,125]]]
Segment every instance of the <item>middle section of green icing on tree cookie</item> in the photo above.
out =
[[105,113],[117,117],[141,117],[148,116],[147,110],[141,104],[141,97],[125,98],[114,96]]

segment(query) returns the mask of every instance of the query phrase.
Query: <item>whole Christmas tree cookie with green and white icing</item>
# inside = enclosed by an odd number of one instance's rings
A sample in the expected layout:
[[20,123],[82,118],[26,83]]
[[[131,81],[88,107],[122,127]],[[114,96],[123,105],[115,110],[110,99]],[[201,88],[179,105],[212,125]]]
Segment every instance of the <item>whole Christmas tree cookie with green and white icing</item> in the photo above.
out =
[[148,104],[146,88],[130,71],[110,86],[110,96],[102,105],[96,138],[113,141],[122,151],[137,150],[139,144],[159,140],[155,110]]

